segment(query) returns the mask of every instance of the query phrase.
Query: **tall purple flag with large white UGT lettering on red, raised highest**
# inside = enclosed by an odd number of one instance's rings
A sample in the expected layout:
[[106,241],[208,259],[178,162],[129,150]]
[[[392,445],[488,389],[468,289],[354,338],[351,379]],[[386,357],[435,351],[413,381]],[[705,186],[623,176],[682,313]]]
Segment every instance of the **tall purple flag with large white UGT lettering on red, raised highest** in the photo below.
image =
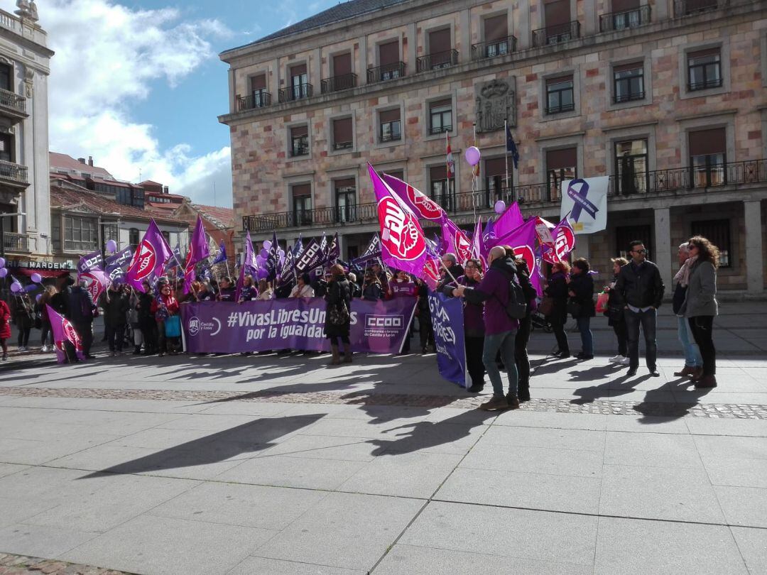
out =
[[430,255],[426,251],[426,238],[423,237],[423,229],[416,214],[380,179],[378,172],[369,163],[367,171],[373,182],[378,205],[381,256],[384,263],[424,278],[423,268]]

